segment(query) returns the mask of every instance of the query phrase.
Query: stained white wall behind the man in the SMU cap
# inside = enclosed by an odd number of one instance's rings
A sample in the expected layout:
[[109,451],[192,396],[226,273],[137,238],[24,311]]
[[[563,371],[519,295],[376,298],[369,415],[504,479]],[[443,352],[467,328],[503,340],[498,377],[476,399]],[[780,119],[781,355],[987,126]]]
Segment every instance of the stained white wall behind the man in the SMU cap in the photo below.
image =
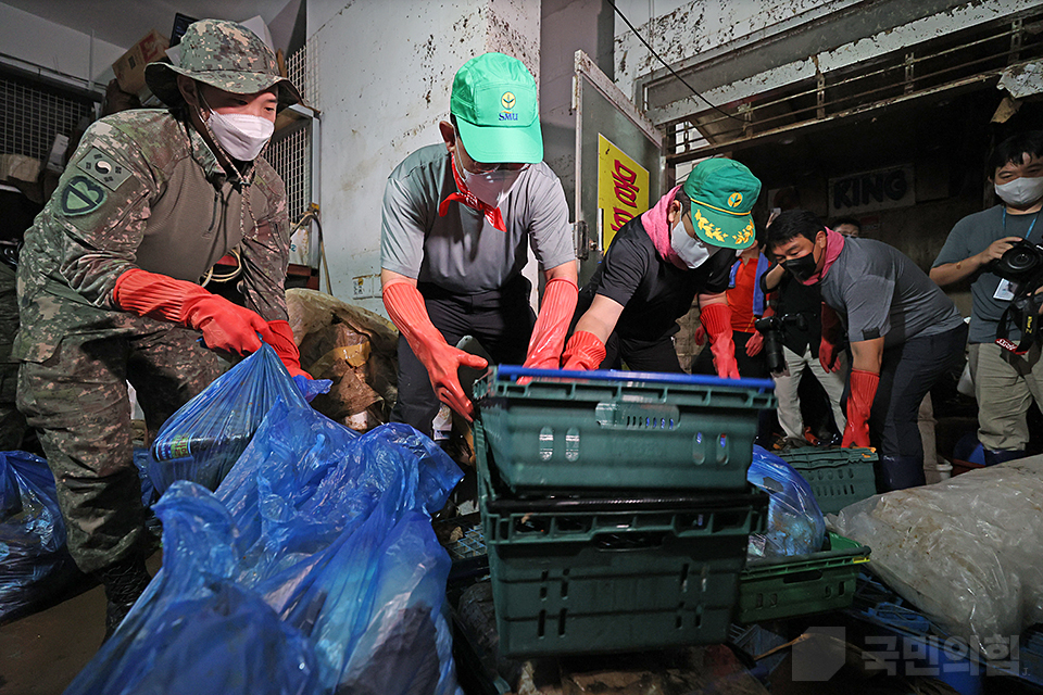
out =
[[[355,0],[336,12],[319,3],[315,12],[322,24],[309,38],[309,60],[322,111],[322,220],[332,291],[386,315],[379,273],[388,174],[414,150],[441,142],[438,123],[449,119],[453,75],[470,58],[501,51],[539,78],[539,3]],[[352,280],[359,277],[363,296]]]

